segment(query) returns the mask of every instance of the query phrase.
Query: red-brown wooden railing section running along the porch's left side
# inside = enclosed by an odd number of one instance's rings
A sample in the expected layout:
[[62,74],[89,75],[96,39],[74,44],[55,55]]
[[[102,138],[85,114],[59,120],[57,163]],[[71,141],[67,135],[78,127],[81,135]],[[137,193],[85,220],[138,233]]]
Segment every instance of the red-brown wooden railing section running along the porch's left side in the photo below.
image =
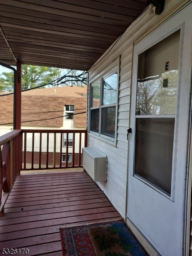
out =
[[0,216],[21,167],[22,134],[21,130],[14,130],[0,136]]

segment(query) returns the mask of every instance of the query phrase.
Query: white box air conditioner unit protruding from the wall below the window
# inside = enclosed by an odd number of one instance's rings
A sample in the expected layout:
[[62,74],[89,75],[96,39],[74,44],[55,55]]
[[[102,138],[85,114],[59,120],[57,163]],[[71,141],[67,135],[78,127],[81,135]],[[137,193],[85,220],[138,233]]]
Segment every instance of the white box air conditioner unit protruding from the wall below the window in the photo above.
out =
[[107,175],[107,157],[95,148],[83,148],[82,166],[93,181],[105,181]]

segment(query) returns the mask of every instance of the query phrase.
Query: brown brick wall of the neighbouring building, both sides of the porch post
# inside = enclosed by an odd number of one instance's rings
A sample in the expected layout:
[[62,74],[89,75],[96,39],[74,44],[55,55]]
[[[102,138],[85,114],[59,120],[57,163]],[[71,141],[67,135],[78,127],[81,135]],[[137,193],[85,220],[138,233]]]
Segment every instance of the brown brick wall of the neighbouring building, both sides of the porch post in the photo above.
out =
[[[74,105],[73,126],[85,128],[86,126],[86,97],[64,96],[35,96],[23,95],[21,97],[21,122],[26,126],[62,127],[64,105]],[[13,95],[0,97],[0,125],[13,123]],[[58,118],[55,118],[57,117]],[[37,120],[37,121],[35,121]],[[27,122],[29,121],[29,122]],[[32,121],[32,122],[31,122]],[[1,128],[1,126],[0,126]]]

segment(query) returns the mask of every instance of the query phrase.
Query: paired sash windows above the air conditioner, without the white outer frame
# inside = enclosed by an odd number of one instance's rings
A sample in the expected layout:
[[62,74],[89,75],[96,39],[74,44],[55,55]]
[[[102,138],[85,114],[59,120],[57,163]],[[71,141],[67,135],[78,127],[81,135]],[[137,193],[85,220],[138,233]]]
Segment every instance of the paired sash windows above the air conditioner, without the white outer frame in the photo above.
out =
[[118,76],[115,70],[91,84],[90,102],[90,131],[112,139],[116,131]]

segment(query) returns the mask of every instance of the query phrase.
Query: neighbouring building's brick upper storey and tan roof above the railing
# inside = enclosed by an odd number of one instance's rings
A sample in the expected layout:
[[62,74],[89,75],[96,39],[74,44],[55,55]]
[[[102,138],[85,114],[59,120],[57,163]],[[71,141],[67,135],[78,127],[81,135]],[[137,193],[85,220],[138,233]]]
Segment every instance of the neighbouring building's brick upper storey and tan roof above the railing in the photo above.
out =
[[[86,113],[81,112],[86,112],[86,93],[86,86],[41,88],[22,92],[22,127],[85,128]],[[70,125],[70,127],[65,122],[65,120],[68,121],[65,117],[65,106],[73,106],[71,108],[74,115],[70,119],[73,120],[73,126]],[[13,95],[0,97],[0,109],[0,129],[12,128]]]

